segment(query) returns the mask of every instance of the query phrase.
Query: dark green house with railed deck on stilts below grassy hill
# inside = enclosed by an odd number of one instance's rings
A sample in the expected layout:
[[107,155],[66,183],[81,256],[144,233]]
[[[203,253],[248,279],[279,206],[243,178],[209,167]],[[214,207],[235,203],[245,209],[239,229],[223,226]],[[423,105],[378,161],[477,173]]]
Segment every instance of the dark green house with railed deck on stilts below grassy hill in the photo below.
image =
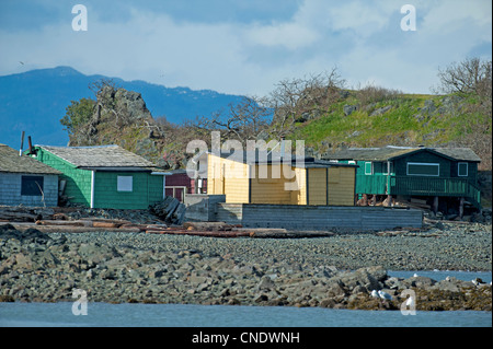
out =
[[359,165],[357,195],[456,198],[481,209],[481,159],[468,148],[347,148],[324,159]]

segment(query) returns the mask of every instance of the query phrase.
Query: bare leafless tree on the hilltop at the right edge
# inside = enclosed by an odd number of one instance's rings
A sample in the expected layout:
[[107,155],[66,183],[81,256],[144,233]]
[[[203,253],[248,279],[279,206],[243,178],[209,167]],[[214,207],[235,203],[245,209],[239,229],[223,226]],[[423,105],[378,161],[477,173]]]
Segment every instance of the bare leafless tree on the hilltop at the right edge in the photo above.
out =
[[442,85],[438,91],[444,93],[477,94],[491,98],[491,67],[492,61],[480,58],[468,58],[461,62],[454,62],[445,70],[439,69],[438,78]]

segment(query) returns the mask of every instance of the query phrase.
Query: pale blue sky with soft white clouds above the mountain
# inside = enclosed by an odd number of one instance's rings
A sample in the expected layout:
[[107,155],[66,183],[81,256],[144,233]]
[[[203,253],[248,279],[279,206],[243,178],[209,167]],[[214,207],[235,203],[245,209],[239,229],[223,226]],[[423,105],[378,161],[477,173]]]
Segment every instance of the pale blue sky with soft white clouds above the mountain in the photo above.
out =
[[336,68],[349,89],[431,93],[471,57],[492,59],[490,0],[0,0],[0,75],[70,66],[264,96]]

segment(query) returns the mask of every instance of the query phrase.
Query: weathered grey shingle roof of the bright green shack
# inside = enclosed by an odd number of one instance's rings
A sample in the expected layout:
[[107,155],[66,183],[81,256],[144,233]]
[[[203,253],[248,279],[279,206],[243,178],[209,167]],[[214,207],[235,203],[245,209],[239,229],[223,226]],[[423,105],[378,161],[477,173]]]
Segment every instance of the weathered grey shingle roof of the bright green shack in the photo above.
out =
[[150,161],[119,146],[51,147],[36,146],[79,168],[156,170]]

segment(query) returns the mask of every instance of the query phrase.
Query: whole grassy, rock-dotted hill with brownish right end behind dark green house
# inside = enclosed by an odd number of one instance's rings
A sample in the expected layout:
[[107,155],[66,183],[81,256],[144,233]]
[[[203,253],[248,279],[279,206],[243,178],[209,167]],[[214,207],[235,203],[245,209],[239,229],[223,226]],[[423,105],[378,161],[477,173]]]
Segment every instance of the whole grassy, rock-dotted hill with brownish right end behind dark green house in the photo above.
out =
[[314,156],[340,147],[468,147],[491,171],[491,105],[474,97],[346,91],[325,113],[298,119],[288,139],[303,139]]

